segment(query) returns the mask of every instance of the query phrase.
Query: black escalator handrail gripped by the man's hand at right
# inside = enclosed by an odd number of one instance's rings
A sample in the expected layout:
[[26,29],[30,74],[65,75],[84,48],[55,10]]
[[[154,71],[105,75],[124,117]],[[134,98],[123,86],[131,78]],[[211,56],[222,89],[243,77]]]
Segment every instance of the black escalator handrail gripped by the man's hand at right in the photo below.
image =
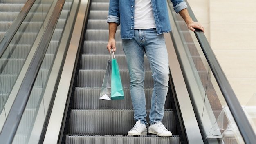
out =
[[[191,7],[189,7],[187,0],[184,1],[188,5],[189,15],[191,16],[193,21],[197,22],[195,15],[191,10]],[[195,36],[198,39],[205,58],[207,59],[211,71],[216,78],[218,86],[220,87],[222,95],[224,96],[227,105],[229,106],[231,114],[234,117],[234,120],[238,126],[238,129],[243,137],[245,144],[255,144],[256,135],[254,134],[252,126],[250,125],[245,115],[245,112],[243,111],[242,106],[240,105],[236,97],[236,94],[234,93],[231,85],[229,84],[225,73],[223,72],[218,60],[216,59],[216,56],[214,55],[208,40],[206,39],[204,33],[199,29],[195,30]]]

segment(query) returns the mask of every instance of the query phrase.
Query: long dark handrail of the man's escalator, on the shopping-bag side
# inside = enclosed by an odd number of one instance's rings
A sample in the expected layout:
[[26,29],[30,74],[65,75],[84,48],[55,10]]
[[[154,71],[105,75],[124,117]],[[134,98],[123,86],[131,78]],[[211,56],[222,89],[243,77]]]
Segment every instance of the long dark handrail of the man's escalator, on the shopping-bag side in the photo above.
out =
[[5,121],[2,131],[0,133],[1,144],[11,144],[13,141],[22,114],[25,111],[25,106],[29,99],[29,95],[36,81],[36,76],[39,72],[48,45],[54,33],[54,29],[58,22],[58,18],[61,15],[64,3],[65,0],[58,0],[56,6],[54,7],[52,15],[43,33],[43,36],[38,44],[34,57],[31,60],[31,64],[29,65],[25,78],[22,81],[16,99],[14,100],[13,105],[11,106],[11,110],[9,112],[7,120]]

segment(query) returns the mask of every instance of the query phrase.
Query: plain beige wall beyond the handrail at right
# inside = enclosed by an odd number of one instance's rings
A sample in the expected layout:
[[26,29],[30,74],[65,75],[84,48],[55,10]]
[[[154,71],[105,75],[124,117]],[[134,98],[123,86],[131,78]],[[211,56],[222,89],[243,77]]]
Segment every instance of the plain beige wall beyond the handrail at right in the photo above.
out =
[[188,2],[240,104],[246,105],[256,93],[256,0]]

